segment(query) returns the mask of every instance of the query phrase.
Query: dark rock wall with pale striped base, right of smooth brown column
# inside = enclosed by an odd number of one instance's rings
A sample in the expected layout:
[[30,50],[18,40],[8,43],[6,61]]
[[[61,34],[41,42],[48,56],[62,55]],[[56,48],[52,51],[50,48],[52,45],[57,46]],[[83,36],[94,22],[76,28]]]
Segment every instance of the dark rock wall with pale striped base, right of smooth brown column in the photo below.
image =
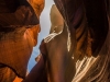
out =
[[[64,82],[103,82],[103,81],[109,82],[110,81],[109,78],[110,77],[110,70],[109,70],[110,69],[110,47],[109,47],[110,20],[108,20],[107,12],[110,11],[107,11],[106,7],[107,0],[101,0],[101,1],[54,0],[54,1],[69,27],[72,37],[70,51],[72,54],[74,54],[74,60],[76,61],[75,75],[70,75],[70,73],[74,72],[70,72],[72,70],[70,71],[68,70],[68,74],[65,73],[66,81]],[[86,17],[86,20],[82,23],[84,17]],[[79,38],[77,38],[78,33],[81,34]],[[82,40],[84,34],[87,37],[85,38],[87,43]],[[79,42],[79,39],[81,39],[81,42]],[[80,46],[81,44],[86,45],[87,51],[82,50],[84,47],[78,48],[78,46]],[[85,55],[81,60],[79,58],[76,60],[76,57],[79,55],[78,52],[80,55]],[[67,68],[69,69],[70,66],[68,66]]]

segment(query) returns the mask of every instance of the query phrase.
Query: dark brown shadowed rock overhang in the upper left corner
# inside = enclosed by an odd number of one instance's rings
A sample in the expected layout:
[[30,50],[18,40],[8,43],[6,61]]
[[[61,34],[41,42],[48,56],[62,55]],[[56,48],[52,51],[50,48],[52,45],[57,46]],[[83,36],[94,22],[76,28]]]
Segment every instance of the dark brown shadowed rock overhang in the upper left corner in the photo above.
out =
[[[0,3],[4,4],[1,10],[6,9],[6,12],[2,11],[0,13],[1,27],[21,27],[38,24],[38,20],[26,0],[2,0]],[[10,9],[9,7],[12,8]],[[14,11],[12,11],[13,9]]]

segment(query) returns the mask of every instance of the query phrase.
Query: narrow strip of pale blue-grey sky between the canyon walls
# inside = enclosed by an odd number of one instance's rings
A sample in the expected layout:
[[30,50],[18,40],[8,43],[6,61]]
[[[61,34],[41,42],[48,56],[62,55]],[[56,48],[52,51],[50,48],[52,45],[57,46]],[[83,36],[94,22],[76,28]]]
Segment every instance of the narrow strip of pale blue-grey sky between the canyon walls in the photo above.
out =
[[38,50],[38,46],[41,44],[41,40],[46,37],[50,33],[50,28],[51,28],[51,21],[50,21],[50,11],[51,11],[51,7],[52,4],[54,4],[53,0],[45,0],[45,7],[44,10],[40,16],[40,24],[41,24],[41,32],[38,34],[38,38],[37,38],[37,45],[33,48],[33,52],[32,56],[30,58],[29,61],[29,66],[28,66],[28,70],[30,71],[36,63],[35,61],[35,57],[37,55],[40,55],[40,50]]

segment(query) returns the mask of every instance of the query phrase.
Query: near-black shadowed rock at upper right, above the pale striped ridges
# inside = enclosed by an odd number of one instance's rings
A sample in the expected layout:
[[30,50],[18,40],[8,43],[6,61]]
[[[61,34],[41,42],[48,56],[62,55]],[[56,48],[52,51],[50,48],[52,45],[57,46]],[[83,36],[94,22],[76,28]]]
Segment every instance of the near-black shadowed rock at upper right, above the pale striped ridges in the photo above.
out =
[[[77,28],[79,27],[80,21],[82,19],[82,14],[86,12],[86,19],[87,19],[86,25],[88,25],[88,28],[90,31],[90,36],[94,39],[94,42],[91,42],[92,44],[91,52],[94,56],[97,56],[98,51],[102,47],[102,44],[106,39],[107,33],[109,30],[108,21],[107,21],[106,3],[103,3],[102,1],[99,3],[99,1],[92,1],[92,0],[89,0],[89,1],[87,0],[78,0],[78,1],[55,0],[55,3],[67,22],[73,42],[75,42],[74,39],[76,39],[74,36],[76,35],[74,34],[75,33],[74,31],[77,31]],[[99,5],[97,5],[97,3],[99,3]],[[70,9],[70,8],[74,8],[74,9]]]

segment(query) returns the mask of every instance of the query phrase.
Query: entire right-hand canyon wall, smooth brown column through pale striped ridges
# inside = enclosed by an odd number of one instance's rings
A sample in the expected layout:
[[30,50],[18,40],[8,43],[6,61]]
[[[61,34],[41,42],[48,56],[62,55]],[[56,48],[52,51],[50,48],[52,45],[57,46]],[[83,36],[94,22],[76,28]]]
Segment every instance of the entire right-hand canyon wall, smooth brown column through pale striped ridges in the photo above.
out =
[[110,82],[109,5],[105,0],[54,1],[70,32],[70,51],[66,35],[50,34],[24,82]]

